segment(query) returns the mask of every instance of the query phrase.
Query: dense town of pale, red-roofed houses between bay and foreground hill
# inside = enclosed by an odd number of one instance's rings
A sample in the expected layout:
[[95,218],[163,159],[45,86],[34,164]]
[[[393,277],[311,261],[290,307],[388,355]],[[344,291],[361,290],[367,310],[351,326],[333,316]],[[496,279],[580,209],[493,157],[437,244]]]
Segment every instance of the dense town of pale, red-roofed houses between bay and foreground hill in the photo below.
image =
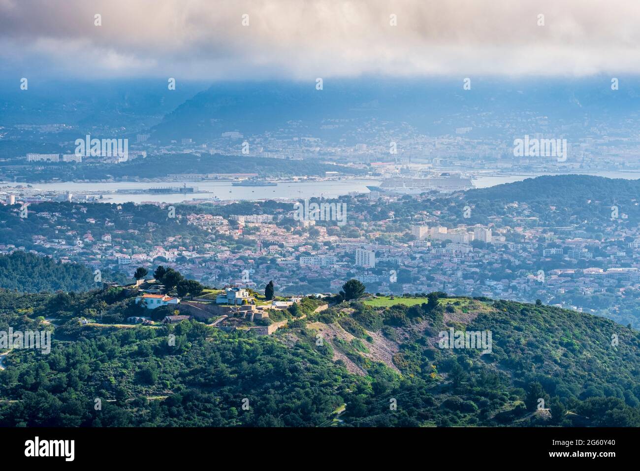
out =
[[[137,267],[152,270],[164,265],[216,287],[263,290],[273,280],[283,295],[336,292],[355,278],[374,293],[439,290],[541,299],[575,310],[605,309],[622,318],[626,315],[620,311],[630,294],[640,290],[640,229],[627,224],[625,211],[591,231],[582,224],[543,227],[540,215],[518,201],[489,215],[484,224],[464,224],[441,210],[419,211],[411,219],[388,211],[385,217],[372,219],[376,208],[397,205],[401,198],[374,199],[369,194],[346,201],[349,218],[342,228],[331,221],[303,224],[307,221],[296,220],[296,206],[287,202],[262,202],[255,205],[255,213],[228,215],[184,205],[174,220],[166,218],[165,205],[138,206],[135,214],[114,206],[96,211],[92,204],[59,203],[64,211],[32,206],[28,215],[41,224],[31,235],[35,248],[29,251],[126,276]],[[271,213],[265,213],[268,203]],[[224,213],[233,206],[214,208]],[[554,206],[549,211],[555,211]],[[19,210],[13,217],[20,220]],[[147,220],[144,226],[138,222],[141,217]],[[0,227],[3,224],[7,222],[0,221]],[[164,235],[168,225],[178,232]],[[0,253],[20,250],[26,247],[0,245]],[[155,288],[150,287],[149,293],[161,294]],[[215,301],[253,302],[244,290],[228,290]],[[145,302],[157,307],[177,301]]]

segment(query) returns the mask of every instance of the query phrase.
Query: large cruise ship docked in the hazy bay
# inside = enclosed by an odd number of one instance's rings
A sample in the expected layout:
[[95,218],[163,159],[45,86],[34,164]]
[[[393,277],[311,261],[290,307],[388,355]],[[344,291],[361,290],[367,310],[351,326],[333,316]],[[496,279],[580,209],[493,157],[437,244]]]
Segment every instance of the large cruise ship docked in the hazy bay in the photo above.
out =
[[450,193],[470,190],[473,187],[474,185],[471,183],[470,178],[446,172],[429,178],[394,176],[381,179],[380,186],[367,186],[371,191],[398,195],[419,195],[430,191]]

